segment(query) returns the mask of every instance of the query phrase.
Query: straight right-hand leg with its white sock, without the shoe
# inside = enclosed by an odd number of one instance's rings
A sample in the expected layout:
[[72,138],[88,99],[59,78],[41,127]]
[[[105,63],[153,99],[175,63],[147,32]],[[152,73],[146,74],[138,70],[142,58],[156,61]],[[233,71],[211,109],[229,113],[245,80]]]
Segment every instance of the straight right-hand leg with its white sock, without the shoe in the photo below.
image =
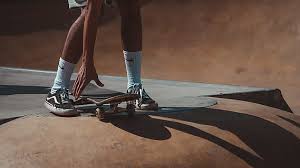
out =
[[118,0],[127,89],[141,84],[142,22],[138,0]]

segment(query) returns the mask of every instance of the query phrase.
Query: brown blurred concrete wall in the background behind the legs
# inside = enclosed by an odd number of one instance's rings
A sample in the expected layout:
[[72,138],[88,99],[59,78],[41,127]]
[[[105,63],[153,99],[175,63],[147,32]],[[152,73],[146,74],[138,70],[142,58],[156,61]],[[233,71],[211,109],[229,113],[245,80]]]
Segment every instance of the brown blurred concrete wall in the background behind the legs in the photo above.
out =
[[[298,0],[143,2],[143,76],[283,90],[300,110]],[[55,70],[78,16],[64,0],[2,2],[0,66]],[[117,9],[105,9],[95,48],[99,74],[125,75]]]

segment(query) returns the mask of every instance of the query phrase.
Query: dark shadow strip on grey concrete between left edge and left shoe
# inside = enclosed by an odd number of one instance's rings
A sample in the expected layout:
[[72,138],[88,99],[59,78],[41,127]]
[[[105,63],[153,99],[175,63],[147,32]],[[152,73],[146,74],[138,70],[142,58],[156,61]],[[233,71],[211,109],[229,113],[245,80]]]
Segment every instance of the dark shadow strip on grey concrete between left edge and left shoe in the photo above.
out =
[[0,95],[47,94],[49,89],[45,86],[0,85]]

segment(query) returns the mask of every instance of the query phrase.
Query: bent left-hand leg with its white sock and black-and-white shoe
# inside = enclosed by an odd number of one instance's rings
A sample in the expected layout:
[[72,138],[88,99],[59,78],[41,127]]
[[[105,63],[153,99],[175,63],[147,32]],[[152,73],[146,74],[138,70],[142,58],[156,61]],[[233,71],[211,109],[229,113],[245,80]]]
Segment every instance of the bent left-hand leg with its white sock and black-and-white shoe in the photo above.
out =
[[69,99],[68,89],[75,64],[82,55],[84,19],[85,10],[82,10],[81,15],[69,30],[53,86],[44,103],[46,108],[56,115],[75,116],[79,114]]

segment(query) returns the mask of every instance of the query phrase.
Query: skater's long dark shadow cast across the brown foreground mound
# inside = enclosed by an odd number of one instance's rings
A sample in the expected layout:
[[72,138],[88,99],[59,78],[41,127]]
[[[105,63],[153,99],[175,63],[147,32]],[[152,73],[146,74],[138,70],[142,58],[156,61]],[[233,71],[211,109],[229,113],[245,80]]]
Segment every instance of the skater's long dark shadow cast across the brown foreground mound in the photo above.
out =
[[154,140],[171,138],[172,135],[166,127],[173,128],[213,142],[253,167],[296,167],[299,163],[299,139],[289,131],[262,118],[208,108],[159,116],[215,126],[229,131],[238,136],[259,157],[209,132],[179,122],[150,116],[136,116],[131,119],[116,118],[110,122],[129,133]]

